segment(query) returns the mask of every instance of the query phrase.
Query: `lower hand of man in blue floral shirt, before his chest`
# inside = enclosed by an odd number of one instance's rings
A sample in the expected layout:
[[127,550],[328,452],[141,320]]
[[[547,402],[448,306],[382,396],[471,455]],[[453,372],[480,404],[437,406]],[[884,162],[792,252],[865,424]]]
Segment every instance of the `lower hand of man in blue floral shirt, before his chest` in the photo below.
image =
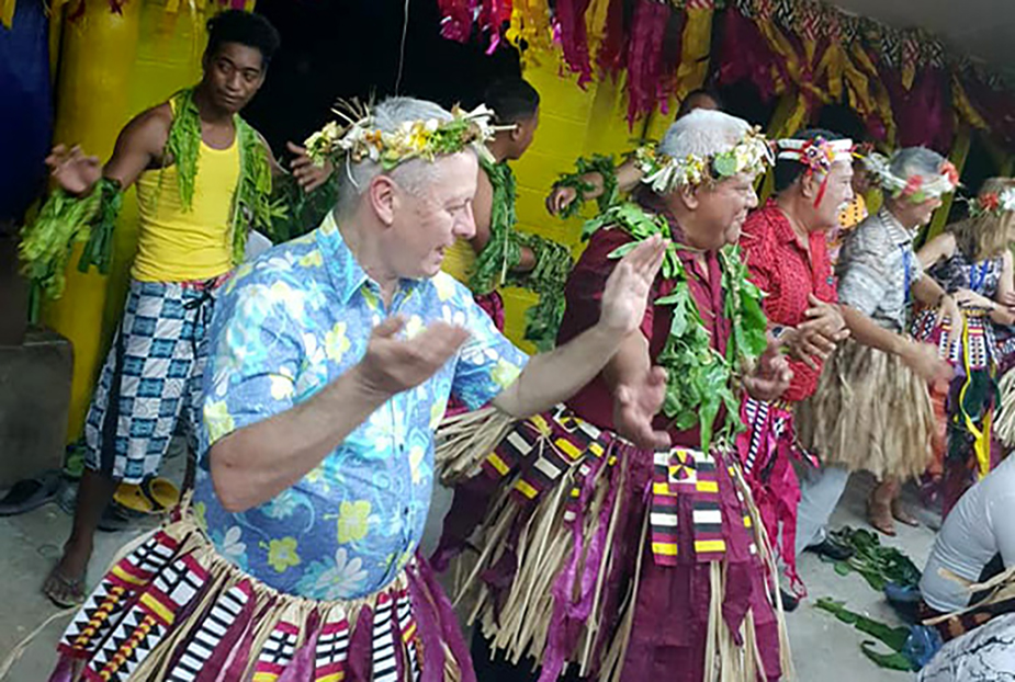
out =
[[356,366],[361,386],[386,397],[414,388],[433,376],[469,339],[469,332],[433,322],[411,340],[396,338],[405,320],[393,316],[373,329],[366,354]]

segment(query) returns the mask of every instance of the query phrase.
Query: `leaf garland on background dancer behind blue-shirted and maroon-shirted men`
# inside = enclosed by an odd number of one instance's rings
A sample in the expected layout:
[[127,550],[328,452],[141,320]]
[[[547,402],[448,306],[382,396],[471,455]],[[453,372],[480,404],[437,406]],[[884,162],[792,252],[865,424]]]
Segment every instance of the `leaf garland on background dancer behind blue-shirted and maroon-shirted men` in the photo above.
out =
[[[515,229],[515,175],[507,163],[481,157],[493,185],[490,238],[476,258],[469,287],[478,295],[499,286],[521,286],[539,294],[539,302],[526,312],[526,340],[539,350],[553,348],[564,316],[564,285],[573,264],[564,245]],[[522,247],[532,250],[535,266],[526,273],[514,269],[521,262]]]

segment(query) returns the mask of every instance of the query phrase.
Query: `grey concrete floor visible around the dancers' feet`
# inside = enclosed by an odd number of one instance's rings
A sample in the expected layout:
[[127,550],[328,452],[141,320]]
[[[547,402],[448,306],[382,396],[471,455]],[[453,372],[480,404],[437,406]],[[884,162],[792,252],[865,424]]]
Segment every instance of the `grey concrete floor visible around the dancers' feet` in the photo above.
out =
[[[864,523],[864,500],[872,482],[868,477],[854,476],[833,525]],[[447,493],[435,500],[433,519],[443,516],[449,503]],[[38,589],[52,564],[59,556],[59,546],[69,532],[70,518],[55,504],[22,516],[0,519],[0,657],[50,615],[57,613]],[[425,544],[432,546],[437,524],[431,523]],[[89,581],[94,583],[116,549],[136,537],[144,528],[124,533],[100,533],[92,559]],[[934,534],[925,526],[900,527],[892,541],[922,566],[933,543]],[[856,575],[841,577],[831,566],[808,555],[800,560],[800,573],[810,590],[811,600],[834,596],[846,601],[860,613],[896,623],[884,600]],[[831,614],[814,609],[804,601],[788,616],[797,679],[801,682],[901,682],[912,679],[906,673],[878,669],[859,649],[864,637]],[[24,656],[11,669],[8,682],[41,682],[48,678],[54,662],[54,646],[69,615],[46,626],[32,641]]]

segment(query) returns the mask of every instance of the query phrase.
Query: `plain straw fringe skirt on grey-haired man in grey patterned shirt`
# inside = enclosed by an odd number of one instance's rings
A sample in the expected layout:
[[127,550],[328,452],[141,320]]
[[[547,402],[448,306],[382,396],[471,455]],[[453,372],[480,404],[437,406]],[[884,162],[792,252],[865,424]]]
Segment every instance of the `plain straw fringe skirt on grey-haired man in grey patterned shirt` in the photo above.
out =
[[854,341],[825,363],[817,390],[796,417],[800,444],[823,464],[905,479],[933,459],[926,384],[898,355]]

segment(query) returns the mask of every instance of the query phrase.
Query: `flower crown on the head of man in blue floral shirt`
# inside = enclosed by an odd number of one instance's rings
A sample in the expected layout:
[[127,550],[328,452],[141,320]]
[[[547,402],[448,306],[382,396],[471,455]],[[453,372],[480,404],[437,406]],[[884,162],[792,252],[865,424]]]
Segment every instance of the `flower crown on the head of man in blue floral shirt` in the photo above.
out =
[[488,154],[484,143],[497,130],[512,127],[493,125],[494,112],[486,105],[471,112],[454,106],[448,121],[407,121],[391,133],[381,130],[370,107],[359,102],[340,101],[331,111],[345,125],[332,121],[304,143],[307,157],[317,164],[328,159],[347,163],[370,160],[392,170],[410,159],[433,161],[470,146]]

